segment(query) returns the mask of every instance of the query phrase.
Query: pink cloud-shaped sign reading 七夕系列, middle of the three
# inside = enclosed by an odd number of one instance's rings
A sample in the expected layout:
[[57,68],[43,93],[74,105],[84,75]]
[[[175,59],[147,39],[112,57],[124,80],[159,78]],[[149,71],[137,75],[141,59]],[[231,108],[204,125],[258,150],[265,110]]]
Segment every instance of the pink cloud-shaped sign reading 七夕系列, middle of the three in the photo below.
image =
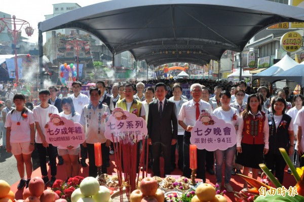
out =
[[104,136],[113,142],[113,135],[114,142],[119,142],[127,134],[131,134],[134,139],[137,136],[137,141],[139,141],[146,136],[147,132],[146,122],[143,118],[124,111],[122,108],[115,108],[105,123]]

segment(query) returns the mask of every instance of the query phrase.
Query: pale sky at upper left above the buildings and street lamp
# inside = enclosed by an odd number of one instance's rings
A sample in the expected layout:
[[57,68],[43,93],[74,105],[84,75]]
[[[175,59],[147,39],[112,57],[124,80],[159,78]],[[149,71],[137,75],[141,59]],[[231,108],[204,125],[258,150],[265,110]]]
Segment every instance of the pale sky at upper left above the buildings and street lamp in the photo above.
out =
[[[3,0],[5,1],[5,0]],[[53,14],[53,4],[77,3],[81,7],[104,2],[105,0],[15,0],[1,4],[0,11],[15,15],[16,18],[25,20],[35,29],[31,37],[28,37],[22,27],[22,36],[28,38],[28,42],[38,42],[38,23],[45,20],[45,15]],[[3,17],[3,16],[0,16]],[[44,39],[45,43],[45,39]]]

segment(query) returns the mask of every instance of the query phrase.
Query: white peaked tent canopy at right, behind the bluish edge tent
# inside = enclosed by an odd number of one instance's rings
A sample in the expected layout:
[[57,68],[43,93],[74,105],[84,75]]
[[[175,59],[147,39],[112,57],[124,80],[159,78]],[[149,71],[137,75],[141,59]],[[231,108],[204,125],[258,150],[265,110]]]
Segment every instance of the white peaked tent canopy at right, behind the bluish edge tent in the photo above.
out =
[[258,74],[255,74],[252,76],[252,80],[254,79],[266,79],[270,82],[274,82],[272,76],[279,74],[281,72],[287,71],[291,68],[293,68],[298,63],[294,61],[291,57],[288,55],[285,55],[280,61],[278,61],[276,64],[272,65],[267,70],[264,70]]

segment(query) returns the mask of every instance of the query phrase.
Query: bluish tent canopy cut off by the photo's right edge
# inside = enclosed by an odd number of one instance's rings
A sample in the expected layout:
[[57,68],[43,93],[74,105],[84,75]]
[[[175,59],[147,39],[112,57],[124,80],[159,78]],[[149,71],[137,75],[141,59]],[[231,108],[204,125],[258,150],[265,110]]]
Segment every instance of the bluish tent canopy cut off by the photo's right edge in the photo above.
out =
[[293,66],[293,68],[287,71],[274,75],[272,78],[274,81],[285,79],[288,81],[294,81],[301,87],[304,87],[304,61]]

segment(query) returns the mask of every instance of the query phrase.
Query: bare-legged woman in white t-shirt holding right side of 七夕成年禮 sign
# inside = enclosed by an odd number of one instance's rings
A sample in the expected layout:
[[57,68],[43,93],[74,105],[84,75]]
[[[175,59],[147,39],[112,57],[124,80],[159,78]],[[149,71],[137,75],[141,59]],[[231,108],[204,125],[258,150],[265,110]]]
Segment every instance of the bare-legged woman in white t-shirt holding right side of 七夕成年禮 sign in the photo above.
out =
[[[65,117],[68,120],[73,122],[80,122],[80,114],[75,112],[73,106],[73,100],[70,97],[63,97],[61,100],[62,112],[59,113],[59,116]],[[79,173],[79,163],[78,163],[78,154],[80,151],[80,146],[77,147],[58,147],[58,154],[62,156],[67,180],[71,177],[78,176]]]

